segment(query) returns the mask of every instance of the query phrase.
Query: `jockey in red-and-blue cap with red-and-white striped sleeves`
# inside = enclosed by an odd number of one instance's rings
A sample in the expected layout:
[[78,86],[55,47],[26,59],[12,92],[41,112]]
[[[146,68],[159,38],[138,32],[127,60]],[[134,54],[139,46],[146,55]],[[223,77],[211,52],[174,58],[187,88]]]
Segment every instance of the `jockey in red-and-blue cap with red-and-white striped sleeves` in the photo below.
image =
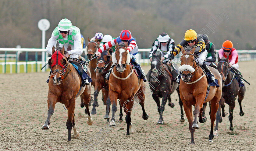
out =
[[[120,36],[117,37],[116,39],[113,39],[107,43],[105,43],[104,45],[102,45],[100,47],[100,49],[98,50],[98,53],[96,56],[100,57],[101,56],[101,53],[102,51],[112,47],[112,46],[115,46],[116,45],[116,42],[118,43],[126,43],[128,42],[128,47],[127,47],[127,50],[130,52],[130,59],[131,59],[131,62],[134,64],[134,65],[138,65],[138,67],[140,68],[140,65],[137,63],[136,61],[136,58],[134,55],[136,55],[139,51],[138,49],[138,46],[137,46],[137,43],[136,43],[136,40],[135,38],[132,37],[132,34],[129,30],[122,30],[121,33],[120,33]],[[113,69],[114,65],[112,65],[110,71],[108,72],[108,74],[106,74],[106,79],[108,80],[109,79],[109,76],[110,76],[110,73]],[[140,78],[141,79],[144,79],[145,78],[145,73],[144,73],[144,70],[141,69],[141,76]]]

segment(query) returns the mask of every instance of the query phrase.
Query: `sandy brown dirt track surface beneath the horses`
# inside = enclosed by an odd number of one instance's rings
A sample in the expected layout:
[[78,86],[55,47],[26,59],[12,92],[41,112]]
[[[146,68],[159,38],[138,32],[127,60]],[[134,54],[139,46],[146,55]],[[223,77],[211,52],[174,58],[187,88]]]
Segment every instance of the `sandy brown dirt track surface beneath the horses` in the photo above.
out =
[[[157,106],[152,96],[146,96],[145,110],[148,120],[142,119],[141,107],[135,106],[131,122],[134,133],[126,136],[126,122],[116,122],[109,128],[103,119],[105,106],[98,96],[97,114],[92,115],[93,125],[86,122],[85,108],[80,107],[80,98],[76,100],[75,121],[80,137],[68,142],[66,128],[67,111],[57,103],[51,118],[49,130],[41,130],[47,118],[49,73],[1,74],[0,94],[0,150],[256,150],[256,61],[239,62],[246,84],[246,93],[242,101],[245,112],[240,116],[239,104],[233,112],[234,131],[229,130],[228,116],[219,124],[219,136],[208,142],[210,133],[209,108],[206,109],[207,121],[198,123],[195,131],[195,145],[191,141],[188,122],[180,122],[180,106],[175,92],[171,98],[174,108],[165,106],[164,124],[156,124],[159,118]],[[142,67],[147,73],[149,66]],[[93,94],[92,88],[91,94]],[[89,107],[90,111],[92,106]],[[117,114],[119,114],[119,106]],[[192,107],[193,109],[193,107]],[[225,106],[228,112],[228,105]],[[123,112],[124,113],[124,112]],[[112,112],[110,113],[110,116]],[[124,113],[124,119],[126,114]],[[73,131],[72,131],[73,133]]]

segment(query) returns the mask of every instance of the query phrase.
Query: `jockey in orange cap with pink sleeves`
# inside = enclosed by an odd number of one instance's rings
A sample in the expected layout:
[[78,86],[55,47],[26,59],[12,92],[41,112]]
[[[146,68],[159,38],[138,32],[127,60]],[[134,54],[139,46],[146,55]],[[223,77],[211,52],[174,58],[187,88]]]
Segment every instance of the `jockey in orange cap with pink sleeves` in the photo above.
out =
[[[239,73],[241,73],[238,69],[239,65],[238,65],[238,53],[236,51],[235,48],[233,48],[233,43],[229,40],[226,40],[225,42],[223,42],[222,44],[222,49],[219,49],[219,58],[222,57],[227,58],[227,56],[229,56],[229,67],[233,67],[235,69],[237,69],[237,71]],[[235,73],[236,74],[236,73]],[[238,82],[239,84],[243,85],[243,81],[240,78],[240,76],[236,76],[238,78]]]

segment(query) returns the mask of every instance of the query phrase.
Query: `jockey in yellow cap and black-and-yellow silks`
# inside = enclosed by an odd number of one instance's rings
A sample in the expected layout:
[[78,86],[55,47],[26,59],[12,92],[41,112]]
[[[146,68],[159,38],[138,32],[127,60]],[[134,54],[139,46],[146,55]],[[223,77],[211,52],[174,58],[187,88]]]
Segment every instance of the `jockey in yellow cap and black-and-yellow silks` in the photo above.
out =
[[172,59],[174,58],[175,55],[177,55],[180,52],[181,47],[186,49],[187,47],[196,47],[196,50],[194,51],[194,54],[199,55],[199,58],[196,59],[196,62],[201,65],[202,68],[206,72],[208,72],[211,76],[209,77],[210,83],[214,82],[215,78],[208,68],[208,66],[204,63],[204,60],[206,59],[207,56],[207,50],[205,49],[205,43],[202,38],[197,36],[196,31],[189,29],[185,33],[185,38],[175,47],[174,52],[172,55],[169,55],[169,64],[172,63]]

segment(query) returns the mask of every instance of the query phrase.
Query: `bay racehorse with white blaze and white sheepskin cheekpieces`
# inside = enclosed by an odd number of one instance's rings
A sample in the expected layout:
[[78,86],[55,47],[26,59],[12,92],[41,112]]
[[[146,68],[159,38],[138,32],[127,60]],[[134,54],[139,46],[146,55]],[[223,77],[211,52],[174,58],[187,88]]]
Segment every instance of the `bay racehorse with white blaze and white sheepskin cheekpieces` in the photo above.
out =
[[112,104],[112,119],[109,122],[109,126],[116,126],[115,113],[117,110],[117,99],[119,99],[121,106],[126,112],[125,121],[127,124],[126,135],[130,135],[133,132],[131,123],[131,112],[133,104],[136,101],[140,103],[142,108],[142,118],[148,119],[148,114],[144,109],[144,86],[145,83],[142,79],[139,79],[134,70],[134,66],[130,64],[130,54],[126,50],[128,43],[123,42],[118,45],[116,43],[116,52],[112,53],[112,62],[115,67],[109,77],[109,96]]

